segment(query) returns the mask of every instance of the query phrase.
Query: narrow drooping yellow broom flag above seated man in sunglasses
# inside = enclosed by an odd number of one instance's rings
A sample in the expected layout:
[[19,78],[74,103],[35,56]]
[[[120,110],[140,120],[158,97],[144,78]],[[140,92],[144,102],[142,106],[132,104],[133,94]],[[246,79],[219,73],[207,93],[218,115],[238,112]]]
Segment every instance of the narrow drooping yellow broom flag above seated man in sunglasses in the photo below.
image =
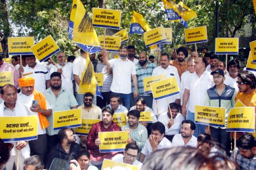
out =
[[82,78],[79,83],[78,93],[84,94],[84,93],[90,92],[96,95],[97,80],[94,73],[94,67],[92,66],[92,62],[90,61],[89,53],[88,52],[86,53],[87,53],[86,68],[82,73]]

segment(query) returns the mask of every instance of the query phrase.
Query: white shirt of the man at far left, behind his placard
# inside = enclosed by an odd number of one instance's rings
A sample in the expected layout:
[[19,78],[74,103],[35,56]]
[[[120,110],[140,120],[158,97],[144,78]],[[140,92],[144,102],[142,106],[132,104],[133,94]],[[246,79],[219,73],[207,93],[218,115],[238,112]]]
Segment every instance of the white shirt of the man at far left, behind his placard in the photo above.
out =
[[[6,116],[4,114],[5,110],[9,110],[9,108],[5,107],[4,102],[2,102],[0,104],[0,117]],[[23,105],[22,103],[16,102],[15,104],[15,108],[13,110],[10,110],[11,112],[13,112],[13,116],[28,116],[29,115],[29,110],[28,108],[26,108],[25,105]],[[11,156],[15,156],[17,155],[17,149],[15,148],[15,146],[17,145],[17,142],[11,142],[13,144],[13,149],[11,149]],[[24,148],[22,148],[21,150],[22,152],[22,156],[24,158],[28,158],[30,157],[30,146],[27,144]]]

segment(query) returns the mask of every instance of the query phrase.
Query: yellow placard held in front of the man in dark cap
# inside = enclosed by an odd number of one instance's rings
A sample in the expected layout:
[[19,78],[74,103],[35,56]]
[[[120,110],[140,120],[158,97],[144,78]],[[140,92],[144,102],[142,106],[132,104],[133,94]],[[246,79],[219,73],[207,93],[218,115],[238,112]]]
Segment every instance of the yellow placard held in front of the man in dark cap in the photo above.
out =
[[195,123],[225,127],[225,108],[195,105]]

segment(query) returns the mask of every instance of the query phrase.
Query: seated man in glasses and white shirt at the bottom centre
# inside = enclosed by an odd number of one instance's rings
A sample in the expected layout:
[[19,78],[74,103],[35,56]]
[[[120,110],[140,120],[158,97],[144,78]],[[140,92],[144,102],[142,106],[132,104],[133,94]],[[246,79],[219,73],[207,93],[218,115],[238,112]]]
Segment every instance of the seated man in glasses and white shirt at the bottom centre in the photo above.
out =
[[136,144],[129,143],[125,146],[125,151],[123,152],[123,156],[116,155],[113,157],[113,161],[117,161],[119,163],[127,163],[130,165],[138,166],[141,169],[142,163],[136,160],[136,157],[139,153],[139,147]]

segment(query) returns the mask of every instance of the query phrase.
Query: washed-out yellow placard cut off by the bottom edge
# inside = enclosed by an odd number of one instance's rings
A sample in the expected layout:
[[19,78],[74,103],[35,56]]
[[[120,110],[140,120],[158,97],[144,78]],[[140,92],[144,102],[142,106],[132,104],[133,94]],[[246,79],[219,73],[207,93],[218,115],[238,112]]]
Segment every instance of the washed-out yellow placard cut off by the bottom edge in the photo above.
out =
[[127,163],[119,163],[109,159],[104,159],[102,164],[102,170],[110,170],[110,169],[121,169],[121,167],[126,168],[127,170],[139,170],[138,166],[130,165]]

